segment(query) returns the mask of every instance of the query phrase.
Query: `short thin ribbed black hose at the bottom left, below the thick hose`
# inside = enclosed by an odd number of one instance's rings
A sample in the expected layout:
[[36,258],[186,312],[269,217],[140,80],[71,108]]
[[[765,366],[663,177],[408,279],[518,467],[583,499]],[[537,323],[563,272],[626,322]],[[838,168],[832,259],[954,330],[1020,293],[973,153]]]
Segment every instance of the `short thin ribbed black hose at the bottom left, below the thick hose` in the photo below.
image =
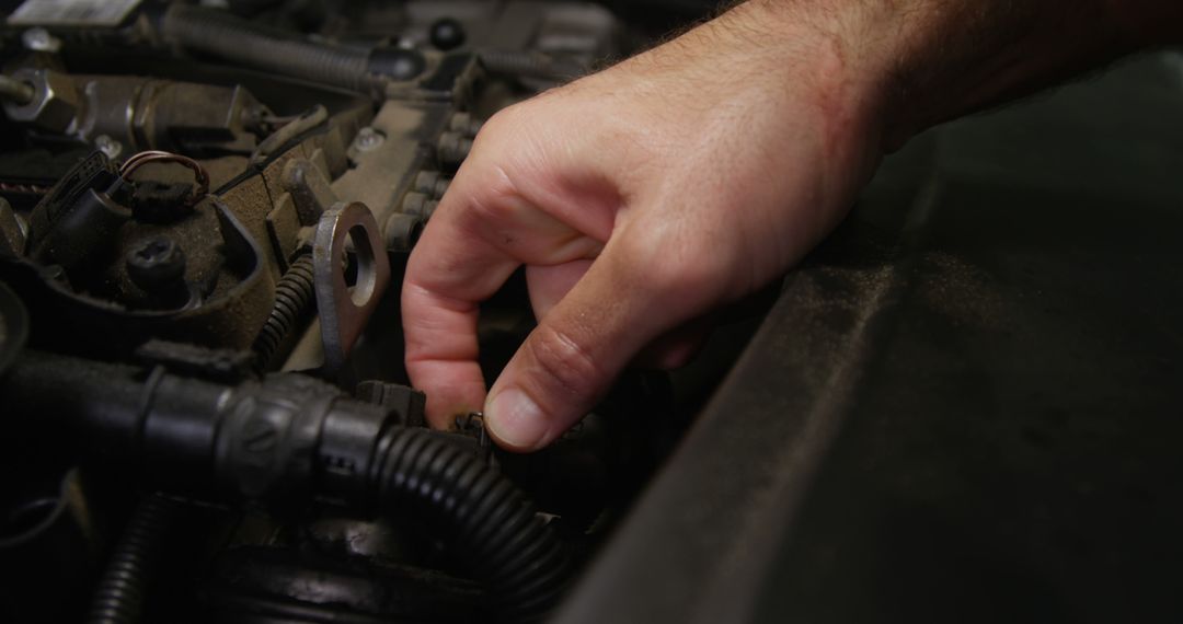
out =
[[140,622],[144,586],[172,515],[168,499],[153,494],[140,502],[95,589],[89,624]]

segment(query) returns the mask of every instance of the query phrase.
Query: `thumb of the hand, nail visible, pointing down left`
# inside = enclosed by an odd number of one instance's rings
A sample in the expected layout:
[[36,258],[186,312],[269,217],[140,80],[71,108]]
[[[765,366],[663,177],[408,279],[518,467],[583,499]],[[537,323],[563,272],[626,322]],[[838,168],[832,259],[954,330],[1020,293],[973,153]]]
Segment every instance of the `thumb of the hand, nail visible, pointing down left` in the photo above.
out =
[[485,422],[510,450],[539,449],[587,414],[621,370],[673,318],[678,306],[651,305],[645,285],[609,241],[587,273],[551,308],[489,392]]

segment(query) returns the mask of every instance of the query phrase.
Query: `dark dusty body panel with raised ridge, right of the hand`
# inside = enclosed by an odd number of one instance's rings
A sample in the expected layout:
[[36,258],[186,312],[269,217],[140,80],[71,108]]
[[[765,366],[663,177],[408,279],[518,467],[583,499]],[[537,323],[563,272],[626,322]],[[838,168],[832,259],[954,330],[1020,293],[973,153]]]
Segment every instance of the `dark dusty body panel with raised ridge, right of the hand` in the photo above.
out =
[[886,163],[557,620],[1178,622],[1178,59]]

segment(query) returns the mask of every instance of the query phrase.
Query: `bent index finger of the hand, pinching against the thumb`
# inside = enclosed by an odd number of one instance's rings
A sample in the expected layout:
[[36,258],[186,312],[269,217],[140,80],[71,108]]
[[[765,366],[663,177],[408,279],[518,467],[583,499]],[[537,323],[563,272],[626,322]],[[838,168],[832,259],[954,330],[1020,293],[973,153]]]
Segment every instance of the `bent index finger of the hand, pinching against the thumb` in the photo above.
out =
[[402,287],[407,372],[427,394],[433,425],[484,405],[480,301],[523,264],[595,258],[602,238],[534,206],[499,167],[465,162],[411,254]]

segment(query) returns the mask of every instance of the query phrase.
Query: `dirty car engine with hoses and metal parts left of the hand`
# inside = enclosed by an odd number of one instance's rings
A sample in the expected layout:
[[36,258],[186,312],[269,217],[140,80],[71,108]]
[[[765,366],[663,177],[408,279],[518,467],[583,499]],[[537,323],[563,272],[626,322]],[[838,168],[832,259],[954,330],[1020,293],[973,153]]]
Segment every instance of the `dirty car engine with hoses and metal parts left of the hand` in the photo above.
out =
[[[648,40],[544,1],[8,2],[0,622],[530,622],[681,435],[429,430],[408,252],[481,121]],[[489,378],[534,324],[481,311]],[[711,378],[717,381],[718,373]]]

